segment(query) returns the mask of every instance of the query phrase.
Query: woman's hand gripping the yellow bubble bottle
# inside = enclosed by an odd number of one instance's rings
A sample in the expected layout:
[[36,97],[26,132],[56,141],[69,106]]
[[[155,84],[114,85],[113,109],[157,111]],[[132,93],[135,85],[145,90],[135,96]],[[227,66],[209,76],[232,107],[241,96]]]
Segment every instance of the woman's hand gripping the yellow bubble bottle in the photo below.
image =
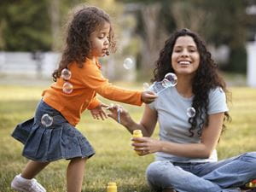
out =
[[161,143],[159,140],[150,138],[150,137],[136,137],[132,138],[131,146],[133,146],[134,150],[139,151],[140,156],[146,154],[154,154],[155,152],[159,152],[161,148]]

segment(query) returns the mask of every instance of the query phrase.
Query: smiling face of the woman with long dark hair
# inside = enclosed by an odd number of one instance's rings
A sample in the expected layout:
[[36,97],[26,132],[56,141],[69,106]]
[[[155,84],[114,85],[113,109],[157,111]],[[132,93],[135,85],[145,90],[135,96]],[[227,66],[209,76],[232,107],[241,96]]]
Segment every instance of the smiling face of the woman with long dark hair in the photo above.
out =
[[177,38],[172,50],[172,68],[177,75],[194,74],[200,63],[195,41],[190,36]]

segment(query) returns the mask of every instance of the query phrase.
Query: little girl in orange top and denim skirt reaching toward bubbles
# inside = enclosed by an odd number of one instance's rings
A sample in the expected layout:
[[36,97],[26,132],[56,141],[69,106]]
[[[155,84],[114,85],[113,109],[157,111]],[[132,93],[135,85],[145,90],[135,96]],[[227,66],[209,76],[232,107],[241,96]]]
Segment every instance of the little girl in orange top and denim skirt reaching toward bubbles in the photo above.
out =
[[23,155],[29,159],[12,181],[12,189],[46,191],[34,177],[49,162],[67,159],[67,192],[81,191],[85,160],[95,151],[75,125],[86,108],[94,118],[106,118],[102,108],[107,105],[96,99],[96,93],[138,106],[156,97],[150,91],[118,88],[103,78],[98,57],[108,55],[115,44],[109,16],[102,9],[84,7],[77,11],[67,28],[66,44],[53,73],[55,83],[44,90],[34,118],[18,125],[12,135],[24,143]]

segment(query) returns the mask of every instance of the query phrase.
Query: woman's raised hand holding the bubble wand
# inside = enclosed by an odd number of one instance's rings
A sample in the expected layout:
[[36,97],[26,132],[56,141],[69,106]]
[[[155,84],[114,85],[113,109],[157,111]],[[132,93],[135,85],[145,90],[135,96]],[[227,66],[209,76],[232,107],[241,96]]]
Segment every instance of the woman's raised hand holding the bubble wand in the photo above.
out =
[[108,113],[108,117],[116,120],[119,124],[128,125],[131,121],[130,114],[122,106],[111,104],[107,109],[110,112]]

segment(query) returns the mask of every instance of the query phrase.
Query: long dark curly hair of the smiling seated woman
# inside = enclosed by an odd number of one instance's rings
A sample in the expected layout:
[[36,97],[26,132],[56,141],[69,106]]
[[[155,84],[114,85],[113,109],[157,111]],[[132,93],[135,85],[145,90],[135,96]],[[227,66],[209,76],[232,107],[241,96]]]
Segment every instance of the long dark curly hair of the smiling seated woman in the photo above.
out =
[[[200,64],[195,73],[195,77],[192,82],[192,91],[195,95],[193,98],[192,107],[195,108],[195,117],[189,118],[189,129],[190,137],[194,136],[194,131],[198,127],[198,135],[201,136],[201,132],[204,125],[209,123],[208,115],[208,94],[211,89],[221,87],[222,90],[228,95],[226,84],[224,79],[218,75],[218,66],[212,60],[211,53],[207,50],[205,43],[195,33],[189,29],[182,29],[172,33],[172,36],[166,40],[165,47],[160,50],[160,57],[156,61],[156,68],[154,69],[154,79],[151,82],[161,81],[165,78],[166,73],[175,73],[172,68],[172,50],[177,38],[182,36],[190,36],[194,39],[197,49],[200,54]],[[204,113],[206,116],[204,116]],[[199,119],[199,121],[197,121]],[[224,113],[224,121],[230,120],[230,114]],[[225,129],[223,125],[223,131]]]

